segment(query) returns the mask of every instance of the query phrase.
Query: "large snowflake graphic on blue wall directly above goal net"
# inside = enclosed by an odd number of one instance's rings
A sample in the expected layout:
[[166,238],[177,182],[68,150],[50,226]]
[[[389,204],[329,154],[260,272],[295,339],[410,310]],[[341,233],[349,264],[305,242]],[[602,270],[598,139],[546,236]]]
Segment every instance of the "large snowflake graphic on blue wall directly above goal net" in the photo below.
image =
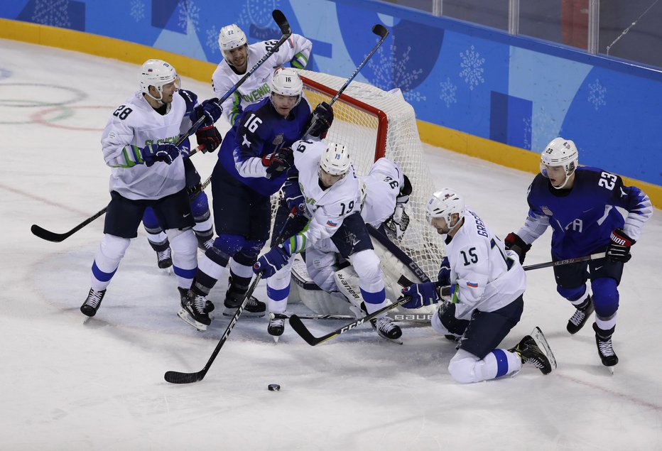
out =
[[[410,52],[411,46],[408,46],[406,50],[398,55],[398,45],[396,44],[396,36],[394,36],[391,45],[389,45],[389,50],[385,51],[382,45],[368,60],[368,67],[374,73],[374,78],[369,81],[372,85],[385,91],[399,87],[407,102],[421,102],[426,98],[420,92],[414,91],[413,86],[414,82],[418,80],[418,76],[423,73],[423,69],[413,69],[411,67],[409,64]],[[367,56],[367,53],[364,56]],[[391,75],[391,78],[388,75]]]

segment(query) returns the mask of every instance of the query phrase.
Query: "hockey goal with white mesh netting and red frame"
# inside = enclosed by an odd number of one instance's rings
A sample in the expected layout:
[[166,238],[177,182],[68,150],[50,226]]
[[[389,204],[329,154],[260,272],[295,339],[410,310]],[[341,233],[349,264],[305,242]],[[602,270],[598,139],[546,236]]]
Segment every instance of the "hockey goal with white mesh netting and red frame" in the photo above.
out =
[[[298,72],[304,80],[304,95],[313,108],[322,101],[329,102],[346,81],[320,72]],[[425,204],[435,187],[423,161],[413,107],[403,99],[399,89],[385,92],[365,83],[352,82],[333,104],[333,111],[335,117],[327,139],[349,146],[354,169],[359,175],[366,175],[372,163],[385,156],[398,163],[411,180],[413,192],[406,208],[411,222],[396,244],[435,280],[443,258],[443,245],[440,235],[425,221]]]

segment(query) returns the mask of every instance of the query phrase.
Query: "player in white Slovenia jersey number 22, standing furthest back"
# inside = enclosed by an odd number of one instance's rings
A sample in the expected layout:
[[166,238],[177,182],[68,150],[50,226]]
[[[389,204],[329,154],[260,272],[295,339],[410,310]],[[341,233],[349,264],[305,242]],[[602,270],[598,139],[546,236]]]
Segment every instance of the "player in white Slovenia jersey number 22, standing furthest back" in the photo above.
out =
[[[250,44],[246,34],[234,23],[224,26],[218,35],[218,45],[223,60],[212,75],[212,88],[220,99],[244,75],[249,67],[253,67],[266,53],[276,45],[276,40],[264,40]],[[266,62],[258,67],[246,79],[244,84],[237,88],[223,104],[223,112],[230,125],[234,125],[237,118],[242,115],[244,108],[269,95],[269,80],[277,67],[289,63],[292,67],[303,69],[308,64],[313,43],[310,40],[293,33],[288,40],[273,53]]]

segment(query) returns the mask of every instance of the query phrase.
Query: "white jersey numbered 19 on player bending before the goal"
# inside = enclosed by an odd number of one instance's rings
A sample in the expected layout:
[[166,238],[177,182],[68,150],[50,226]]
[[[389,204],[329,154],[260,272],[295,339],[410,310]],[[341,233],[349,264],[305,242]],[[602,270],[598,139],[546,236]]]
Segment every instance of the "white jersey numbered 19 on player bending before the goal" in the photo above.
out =
[[342,225],[342,220],[357,212],[361,203],[359,179],[350,167],[347,175],[323,190],[319,183],[319,167],[322,152],[327,148],[323,141],[297,141],[292,146],[294,165],[299,171],[299,188],[310,214],[308,229],[303,232],[305,247],[314,246],[322,239],[330,238]]

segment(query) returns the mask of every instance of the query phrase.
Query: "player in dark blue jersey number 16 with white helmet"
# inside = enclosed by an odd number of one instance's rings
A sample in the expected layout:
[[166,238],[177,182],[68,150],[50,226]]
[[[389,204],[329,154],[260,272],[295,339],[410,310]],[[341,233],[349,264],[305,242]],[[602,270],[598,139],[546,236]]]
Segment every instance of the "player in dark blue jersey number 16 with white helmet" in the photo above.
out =
[[[199,262],[198,271],[180,317],[197,330],[210,325],[214,308],[207,295],[228,266],[230,277],[224,307],[234,314],[244,300],[252,267],[269,237],[270,196],[281,189],[293,164],[289,148],[310,126],[321,134],[332,121],[332,110],[322,103],[310,112],[299,75],[283,68],[273,73],[271,95],[246,107],[242,119],[225,136],[212,173],[212,205],[218,234]],[[232,261],[230,261],[232,259]],[[263,316],[266,306],[251,296],[246,315]]]

